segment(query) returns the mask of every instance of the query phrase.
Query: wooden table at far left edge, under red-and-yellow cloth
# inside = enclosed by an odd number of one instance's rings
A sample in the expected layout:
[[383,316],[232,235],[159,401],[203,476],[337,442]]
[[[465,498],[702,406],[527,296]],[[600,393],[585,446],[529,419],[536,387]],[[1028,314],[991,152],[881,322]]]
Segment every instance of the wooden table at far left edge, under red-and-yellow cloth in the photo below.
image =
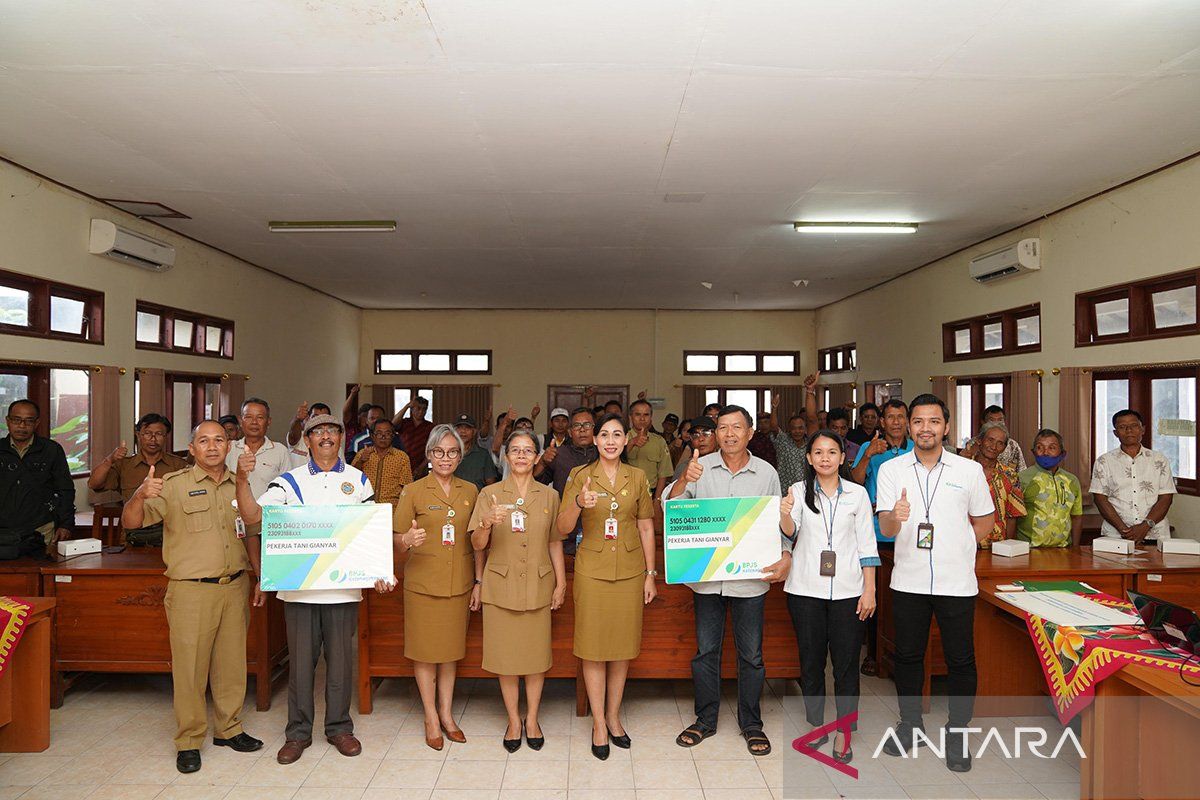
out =
[[0,675],[0,752],[40,753],[50,746],[53,597],[13,597],[29,616]]

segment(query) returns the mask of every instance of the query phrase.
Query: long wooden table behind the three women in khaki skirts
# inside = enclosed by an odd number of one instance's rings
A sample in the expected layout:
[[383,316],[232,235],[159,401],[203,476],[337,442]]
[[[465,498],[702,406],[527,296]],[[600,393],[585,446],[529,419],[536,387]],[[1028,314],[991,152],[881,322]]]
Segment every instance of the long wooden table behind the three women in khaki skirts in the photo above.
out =
[[[661,558],[661,553],[660,553]],[[570,564],[571,559],[568,559]],[[397,566],[403,584],[403,566]],[[660,567],[661,570],[661,567]],[[568,570],[566,602],[552,614],[553,662],[550,678],[575,678],[576,714],[587,712],[587,696],[580,661],[574,655],[575,607],[571,600],[572,572]],[[359,609],[359,711],[370,714],[371,693],[383,678],[408,676],[413,663],[404,657],[403,585],[390,595],[364,593]],[[642,619],[642,654],[629,667],[630,678],[690,679],[696,655],[696,625],[691,589],[659,584],[659,596],[646,608]],[[763,625],[763,661],[768,678],[799,678],[800,661],[781,585],[767,594]],[[472,614],[467,630],[467,656],[458,663],[463,678],[494,678],[482,661],[482,615]],[[726,624],[721,650],[721,675],[737,678],[737,649],[733,626]]]

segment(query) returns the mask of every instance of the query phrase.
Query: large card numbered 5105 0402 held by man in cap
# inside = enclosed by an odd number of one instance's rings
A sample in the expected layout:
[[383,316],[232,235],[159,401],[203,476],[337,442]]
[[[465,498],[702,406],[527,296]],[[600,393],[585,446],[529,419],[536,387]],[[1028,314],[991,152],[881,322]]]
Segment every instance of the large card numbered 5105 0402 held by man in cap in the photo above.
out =
[[392,579],[391,505],[263,506],[263,591]]

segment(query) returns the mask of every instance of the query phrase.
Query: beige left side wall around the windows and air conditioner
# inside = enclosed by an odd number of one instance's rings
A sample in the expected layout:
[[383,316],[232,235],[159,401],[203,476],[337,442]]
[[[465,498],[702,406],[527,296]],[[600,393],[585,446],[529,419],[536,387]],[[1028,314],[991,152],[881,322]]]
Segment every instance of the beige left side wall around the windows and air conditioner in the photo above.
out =
[[[174,269],[158,275],[89,254],[92,218],[112,219],[174,245]],[[301,399],[320,398],[337,407],[346,383],[354,379],[358,308],[2,162],[0,269],[104,291],[104,344],[0,335],[0,360],[126,367],[121,431],[130,438],[134,367],[251,375],[246,395],[262,395],[272,403],[275,438],[283,437]],[[232,319],[235,357],[134,349],[137,300]],[[78,497],[78,507],[85,507],[85,498]]]

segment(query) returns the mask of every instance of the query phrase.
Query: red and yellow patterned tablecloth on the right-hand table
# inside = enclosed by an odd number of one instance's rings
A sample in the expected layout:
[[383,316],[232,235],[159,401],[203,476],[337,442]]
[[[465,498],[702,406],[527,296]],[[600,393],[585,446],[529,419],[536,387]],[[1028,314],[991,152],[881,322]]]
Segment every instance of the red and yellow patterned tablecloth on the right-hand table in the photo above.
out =
[[[1133,604],[1105,594],[1084,594],[1105,606],[1133,612]],[[1019,610],[1019,609],[1014,609]],[[1025,615],[1025,626],[1042,662],[1058,718],[1066,724],[1096,697],[1096,684],[1126,664],[1142,664],[1178,672],[1186,654],[1168,649],[1145,628],[1134,625],[1112,627],[1069,627],[1040,616]],[[1192,682],[1200,682],[1200,666],[1183,667]]]

